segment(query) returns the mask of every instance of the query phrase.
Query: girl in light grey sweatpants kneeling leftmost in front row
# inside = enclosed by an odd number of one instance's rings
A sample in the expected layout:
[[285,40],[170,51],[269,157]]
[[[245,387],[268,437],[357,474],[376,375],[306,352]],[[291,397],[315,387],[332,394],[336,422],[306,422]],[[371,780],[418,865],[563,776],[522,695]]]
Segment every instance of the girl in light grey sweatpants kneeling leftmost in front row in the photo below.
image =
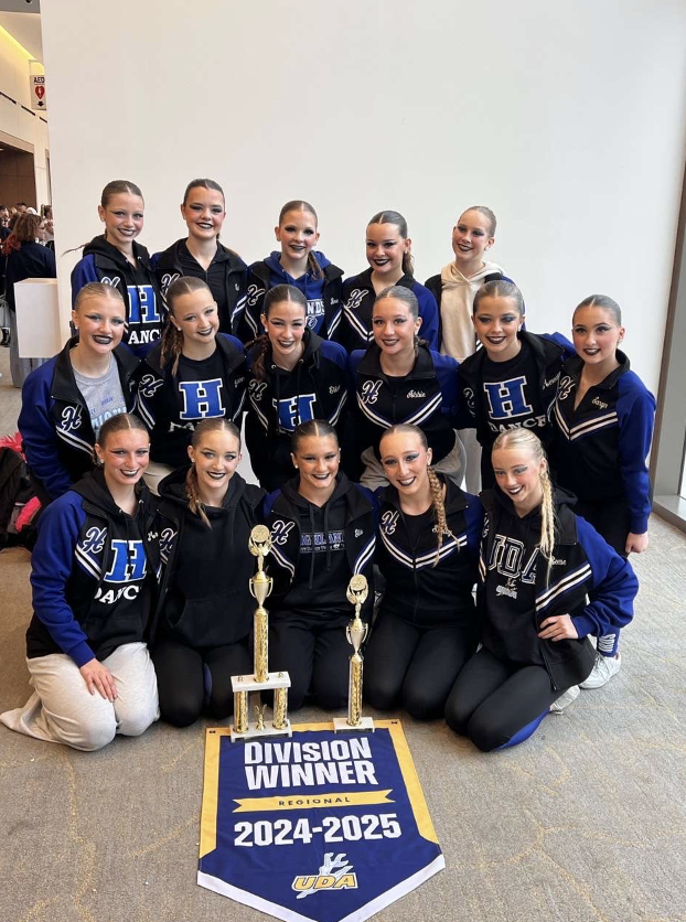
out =
[[159,560],[141,483],[149,443],[139,419],[111,417],[96,443],[99,468],[41,515],[26,631],[35,690],[23,708],[0,715],[11,730],[92,751],[158,719],[146,645]]

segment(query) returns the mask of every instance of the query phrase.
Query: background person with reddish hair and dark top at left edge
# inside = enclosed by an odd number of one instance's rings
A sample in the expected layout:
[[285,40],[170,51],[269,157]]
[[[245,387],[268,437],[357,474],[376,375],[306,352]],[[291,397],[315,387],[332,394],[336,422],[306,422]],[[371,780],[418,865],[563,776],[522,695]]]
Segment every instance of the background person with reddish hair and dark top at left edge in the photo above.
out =
[[6,298],[10,309],[10,372],[14,387],[21,387],[28,376],[46,358],[20,358],[17,335],[17,304],[14,285],[24,279],[54,279],[57,276],[55,254],[42,246],[45,239],[45,222],[36,214],[21,214],[12,233],[2,244],[6,257]]

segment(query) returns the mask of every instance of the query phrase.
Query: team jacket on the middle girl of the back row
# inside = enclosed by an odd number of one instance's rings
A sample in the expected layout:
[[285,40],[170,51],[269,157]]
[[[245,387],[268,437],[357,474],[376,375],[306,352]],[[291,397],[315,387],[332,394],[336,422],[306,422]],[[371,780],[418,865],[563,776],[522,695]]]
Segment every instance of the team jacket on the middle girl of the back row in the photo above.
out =
[[277,285],[292,285],[299,288],[308,301],[308,326],[317,325],[317,318],[323,313],[323,323],[318,333],[324,340],[334,340],[343,312],[343,269],[331,262],[323,253],[314,256],[321,266],[323,278],[317,279],[307,271],[299,279],[293,279],[279,261],[280,254],[274,250],[267,259],[253,262],[248,270],[248,305],[246,321],[251,331],[251,339],[262,332],[260,314],[265,294]]

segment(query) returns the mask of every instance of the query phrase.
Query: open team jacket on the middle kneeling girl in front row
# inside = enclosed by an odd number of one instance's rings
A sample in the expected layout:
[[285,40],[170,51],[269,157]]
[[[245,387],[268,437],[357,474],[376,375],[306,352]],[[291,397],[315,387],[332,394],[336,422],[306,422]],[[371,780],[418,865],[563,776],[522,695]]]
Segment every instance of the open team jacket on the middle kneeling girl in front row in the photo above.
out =
[[[283,600],[293,583],[302,553],[301,517],[304,512],[307,518],[309,506],[308,501],[298,493],[297,478],[286,483],[281,490],[270,493],[265,500],[265,524],[271,533],[271,553],[268,559],[275,565],[270,570],[270,575],[275,577],[274,610],[283,610]],[[346,601],[345,592],[350,578],[362,573],[367,578],[369,589],[362,617],[368,620],[374,605],[374,496],[369,490],[350,481],[344,473],[339,474],[333,495],[323,507],[322,540],[325,547],[323,553],[315,555],[312,548],[307,548],[310,560],[308,596],[311,598],[308,607],[311,604],[312,614],[317,615],[318,611],[323,609],[337,609],[349,612],[352,617],[354,609]],[[341,540],[345,544],[346,576],[340,585],[332,585],[326,568],[335,543]],[[315,557],[323,558],[323,570],[317,569]]]

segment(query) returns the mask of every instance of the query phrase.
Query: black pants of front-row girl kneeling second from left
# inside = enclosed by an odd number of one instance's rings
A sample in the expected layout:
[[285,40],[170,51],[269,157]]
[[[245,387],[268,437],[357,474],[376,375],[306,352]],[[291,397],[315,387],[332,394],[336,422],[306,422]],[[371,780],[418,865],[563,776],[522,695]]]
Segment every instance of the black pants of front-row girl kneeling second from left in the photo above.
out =
[[253,673],[247,637],[226,646],[194,650],[164,637],[152,651],[160,717],[174,727],[194,723],[204,710],[223,720],[234,709],[231,677]]

